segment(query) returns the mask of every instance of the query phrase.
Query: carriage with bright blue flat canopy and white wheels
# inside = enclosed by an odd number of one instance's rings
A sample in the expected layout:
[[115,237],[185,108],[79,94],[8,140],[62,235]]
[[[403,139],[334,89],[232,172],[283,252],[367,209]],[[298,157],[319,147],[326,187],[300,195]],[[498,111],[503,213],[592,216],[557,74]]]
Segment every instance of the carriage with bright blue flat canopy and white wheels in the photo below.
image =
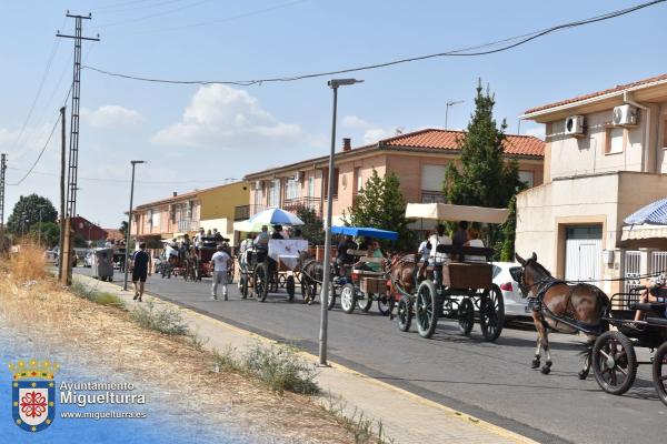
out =
[[[331,233],[364,236],[367,240],[385,239],[395,241],[398,239],[398,233],[395,231],[364,226],[331,226]],[[386,259],[372,258],[367,255],[366,251],[359,250],[348,250],[347,253],[367,266],[354,268],[352,264],[337,264],[335,266],[338,273],[331,281],[329,310],[335,306],[338,289],[340,289],[340,307],[346,313],[352,313],[357,306],[359,310],[368,312],[372,303],[377,301],[380,313],[389,314],[392,304],[387,295],[389,274],[385,266]]]

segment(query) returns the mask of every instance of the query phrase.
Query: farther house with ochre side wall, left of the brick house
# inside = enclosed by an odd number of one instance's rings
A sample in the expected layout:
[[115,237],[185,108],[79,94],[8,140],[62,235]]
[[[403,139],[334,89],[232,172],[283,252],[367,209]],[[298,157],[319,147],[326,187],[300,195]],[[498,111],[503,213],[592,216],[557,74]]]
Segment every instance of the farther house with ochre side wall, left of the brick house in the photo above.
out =
[[132,236],[156,248],[162,239],[173,239],[199,229],[217,229],[233,239],[235,209],[247,205],[248,184],[235,182],[138,205],[132,211]]

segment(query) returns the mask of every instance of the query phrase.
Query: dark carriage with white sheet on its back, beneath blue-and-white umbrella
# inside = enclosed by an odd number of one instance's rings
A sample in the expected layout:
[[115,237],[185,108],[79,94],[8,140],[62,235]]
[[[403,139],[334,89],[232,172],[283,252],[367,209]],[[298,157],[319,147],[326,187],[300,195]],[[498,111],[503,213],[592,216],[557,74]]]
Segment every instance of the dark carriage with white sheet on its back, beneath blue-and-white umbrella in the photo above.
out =
[[278,293],[279,287],[285,286],[288,300],[292,302],[300,252],[307,250],[308,241],[299,239],[271,239],[267,248],[255,245],[248,249],[239,261],[241,296],[256,296],[259,302],[265,302],[269,293]]

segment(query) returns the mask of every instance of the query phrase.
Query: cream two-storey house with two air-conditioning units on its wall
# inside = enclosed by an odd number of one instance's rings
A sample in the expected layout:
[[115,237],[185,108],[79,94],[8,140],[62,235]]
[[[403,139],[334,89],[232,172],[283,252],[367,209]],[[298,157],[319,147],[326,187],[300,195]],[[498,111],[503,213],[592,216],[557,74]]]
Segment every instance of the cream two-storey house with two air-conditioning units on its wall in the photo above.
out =
[[[667,74],[527,110],[544,123],[545,183],[517,198],[516,250],[554,275],[608,280],[665,268],[665,239],[623,220],[667,193]],[[599,282],[607,292],[619,282]]]

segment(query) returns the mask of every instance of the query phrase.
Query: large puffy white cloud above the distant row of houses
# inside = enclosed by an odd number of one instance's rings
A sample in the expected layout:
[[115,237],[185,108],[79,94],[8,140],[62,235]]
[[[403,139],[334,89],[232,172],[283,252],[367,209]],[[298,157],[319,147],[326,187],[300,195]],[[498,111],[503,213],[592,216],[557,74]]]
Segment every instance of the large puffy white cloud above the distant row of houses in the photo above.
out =
[[247,91],[213,84],[195,93],[181,122],[160,130],[151,140],[175,147],[233,149],[283,145],[302,135],[301,127],[280,122]]

